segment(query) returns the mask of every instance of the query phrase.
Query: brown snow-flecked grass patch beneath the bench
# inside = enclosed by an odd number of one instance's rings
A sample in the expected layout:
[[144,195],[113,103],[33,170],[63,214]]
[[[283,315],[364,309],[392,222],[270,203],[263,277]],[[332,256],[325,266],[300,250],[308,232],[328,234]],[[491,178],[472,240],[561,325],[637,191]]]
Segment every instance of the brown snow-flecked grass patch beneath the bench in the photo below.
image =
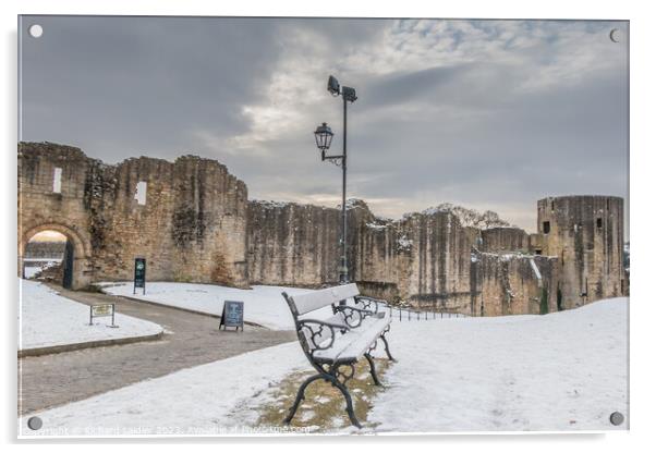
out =
[[[376,364],[376,374],[378,379],[385,385],[385,372],[390,364],[387,359],[374,359]],[[272,402],[260,406],[258,409],[258,427],[281,427],[284,426],[283,419],[289,413],[289,408],[294,403],[296,392],[303,381],[316,371],[294,372],[288,375],[272,391]],[[366,359],[361,359],[355,365],[355,375],[347,382],[349,393],[353,401],[355,416],[364,427],[373,428],[367,423],[367,415],[375,395],[382,391],[384,387],[374,384],[369,374],[369,364]],[[305,390],[305,400],[301,402],[294,419],[290,424],[290,431],[299,430],[303,432],[328,432],[348,428],[351,426],[347,415],[347,401],[342,393],[333,388],[329,382],[316,380]]]

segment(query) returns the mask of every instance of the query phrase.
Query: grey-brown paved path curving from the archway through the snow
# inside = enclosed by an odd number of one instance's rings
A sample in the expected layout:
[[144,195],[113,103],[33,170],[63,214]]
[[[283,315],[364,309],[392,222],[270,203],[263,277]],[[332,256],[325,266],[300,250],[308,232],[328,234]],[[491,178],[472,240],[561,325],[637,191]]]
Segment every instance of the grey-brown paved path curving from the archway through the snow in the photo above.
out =
[[165,327],[165,334],[157,341],[19,359],[19,415],[295,340],[291,331],[252,326],[245,326],[244,332],[219,331],[219,320],[209,316],[119,296],[56,290],[85,304],[114,303],[118,313],[157,322]]

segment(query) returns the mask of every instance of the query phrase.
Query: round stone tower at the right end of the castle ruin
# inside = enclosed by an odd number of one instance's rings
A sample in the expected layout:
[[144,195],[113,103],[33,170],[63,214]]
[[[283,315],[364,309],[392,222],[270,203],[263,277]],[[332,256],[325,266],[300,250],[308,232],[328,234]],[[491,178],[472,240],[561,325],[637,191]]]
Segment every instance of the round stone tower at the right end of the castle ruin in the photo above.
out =
[[537,201],[535,253],[560,259],[561,309],[625,293],[623,209],[623,199],[610,196]]

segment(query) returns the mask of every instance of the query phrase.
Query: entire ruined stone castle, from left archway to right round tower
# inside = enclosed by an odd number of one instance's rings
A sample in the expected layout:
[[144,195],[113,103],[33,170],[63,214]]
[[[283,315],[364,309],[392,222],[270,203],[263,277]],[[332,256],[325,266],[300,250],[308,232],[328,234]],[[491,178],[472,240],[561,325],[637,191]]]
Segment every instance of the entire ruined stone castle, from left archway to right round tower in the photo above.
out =
[[[317,287],[338,281],[340,211],[248,200],[215,160],[19,144],[19,265],[37,233],[66,236],[68,285],[132,280]],[[463,226],[450,209],[380,219],[352,200],[349,276],[362,293],[472,316],[539,314],[624,295],[623,200],[545,198],[537,231]],[[65,278],[64,278],[65,281]]]

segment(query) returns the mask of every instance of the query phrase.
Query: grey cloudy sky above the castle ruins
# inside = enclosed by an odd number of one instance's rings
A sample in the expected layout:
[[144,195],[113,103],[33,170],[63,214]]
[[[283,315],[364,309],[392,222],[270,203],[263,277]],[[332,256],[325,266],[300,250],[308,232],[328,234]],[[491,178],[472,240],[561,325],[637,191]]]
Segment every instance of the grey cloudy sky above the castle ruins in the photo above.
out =
[[21,33],[20,138],[108,163],[194,154],[251,198],[336,206],[313,136],[326,121],[341,150],[333,74],[359,96],[349,197],[379,216],[450,201],[534,231],[538,198],[628,195],[624,22],[25,16]]

